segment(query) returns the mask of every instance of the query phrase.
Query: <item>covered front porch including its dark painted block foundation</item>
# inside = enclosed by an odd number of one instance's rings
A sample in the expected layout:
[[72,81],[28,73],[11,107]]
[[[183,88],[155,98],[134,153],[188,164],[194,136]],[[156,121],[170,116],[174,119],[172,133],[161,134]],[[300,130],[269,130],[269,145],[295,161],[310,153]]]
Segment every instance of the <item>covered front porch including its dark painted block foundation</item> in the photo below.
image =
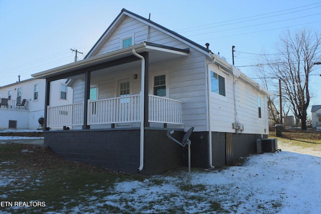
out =
[[[117,171],[182,166],[184,149],[166,133],[184,135],[184,102],[178,94],[173,99],[170,75],[187,56],[188,49],[141,43],[33,75],[46,79],[45,144],[65,158]],[[60,79],[73,89],[72,104],[50,102],[57,93],[51,82]]]

